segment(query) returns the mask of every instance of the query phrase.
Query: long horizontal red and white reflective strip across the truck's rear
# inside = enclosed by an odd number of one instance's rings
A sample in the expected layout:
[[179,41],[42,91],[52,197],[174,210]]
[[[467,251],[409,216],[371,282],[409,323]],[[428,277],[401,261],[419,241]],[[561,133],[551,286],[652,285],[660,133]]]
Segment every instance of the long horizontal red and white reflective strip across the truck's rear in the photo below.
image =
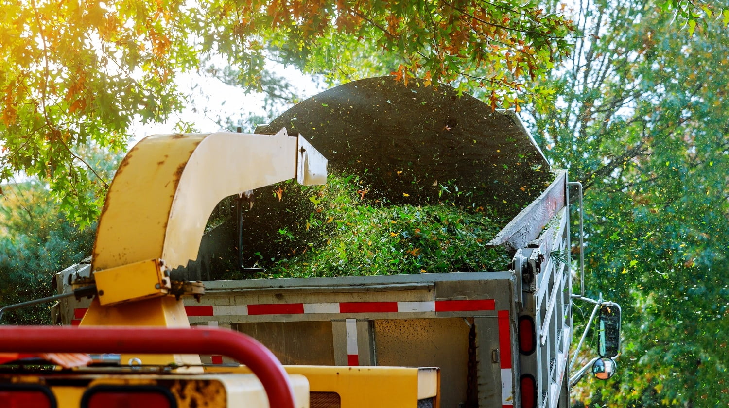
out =
[[[338,302],[338,303],[269,303],[262,305],[185,306],[190,317],[235,315],[307,315],[338,313],[438,313],[494,310],[494,299],[431,300],[426,302]],[[74,321],[86,309],[74,309]],[[72,321],[71,324],[75,322]],[[76,323],[77,324],[77,323]]]

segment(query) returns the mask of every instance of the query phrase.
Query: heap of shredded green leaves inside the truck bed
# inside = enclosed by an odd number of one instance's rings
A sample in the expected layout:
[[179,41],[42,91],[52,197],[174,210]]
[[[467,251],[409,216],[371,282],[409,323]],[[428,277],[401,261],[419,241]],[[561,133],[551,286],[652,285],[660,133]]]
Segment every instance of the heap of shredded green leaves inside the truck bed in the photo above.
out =
[[277,189],[279,197],[308,198],[313,211],[278,229],[276,244],[289,251],[277,259],[260,256],[266,270],[249,278],[472,272],[504,270],[510,262],[503,248],[486,248],[509,220],[488,208],[454,205],[445,188],[440,204],[423,206],[388,205],[356,176],[330,174],[326,186],[294,181]]

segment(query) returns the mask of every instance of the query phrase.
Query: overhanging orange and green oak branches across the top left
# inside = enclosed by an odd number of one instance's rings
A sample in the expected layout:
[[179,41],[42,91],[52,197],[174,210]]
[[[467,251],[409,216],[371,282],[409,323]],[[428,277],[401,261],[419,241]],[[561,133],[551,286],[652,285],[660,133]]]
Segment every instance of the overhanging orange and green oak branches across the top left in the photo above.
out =
[[103,197],[107,182],[77,146],[125,149],[131,122],[179,111],[176,75],[211,55],[248,90],[273,56],[332,82],[393,71],[518,104],[569,53],[572,23],[537,4],[0,0],[0,181],[19,171],[48,180],[66,211],[93,219],[99,205],[87,197]]

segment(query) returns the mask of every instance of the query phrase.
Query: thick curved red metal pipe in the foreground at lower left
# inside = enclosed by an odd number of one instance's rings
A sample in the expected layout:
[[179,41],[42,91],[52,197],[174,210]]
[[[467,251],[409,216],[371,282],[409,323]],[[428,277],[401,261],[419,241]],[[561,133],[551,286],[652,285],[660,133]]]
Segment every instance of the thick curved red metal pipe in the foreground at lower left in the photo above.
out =
[[0,327],[4,353],[222,354],[249,366],[265,388],[270,407],[295,408],[281,362],[260,342],[227,329],[159,327]]

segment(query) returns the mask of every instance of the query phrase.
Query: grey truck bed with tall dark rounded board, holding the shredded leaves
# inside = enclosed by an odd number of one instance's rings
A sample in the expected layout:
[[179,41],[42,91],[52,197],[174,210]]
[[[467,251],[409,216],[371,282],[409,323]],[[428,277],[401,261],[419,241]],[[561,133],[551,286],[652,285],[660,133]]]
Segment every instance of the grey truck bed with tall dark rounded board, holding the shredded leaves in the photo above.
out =
[[[552,254],[570,248],[567,173],[550,169],[515,114],[448,87],[375,78],[309,98],[257,131],[281,127],[391,205],[440,205],[441,186],[457,185],[449,205],[483,206],[510,220],[483,240],[512,261],[474,272],[208,279],[219,260],[238,260],[241,251],[270,256],[256,243],[289,251],[280,231],[300,223],[313,201],[292,206],[263,187],[252,207],[238,200],[249,211],[211,230],[183,271],[206,286],[200,302],[185,300],[191,324],[251,334],[284,364],[440,366],[443,407],[518,407],[525,379],[538,407],[566,404],[571,276],[564,256]],[[250,272],[233,264],[232,276]],[[58,273],[58,288],[69,291],[75,275],[90,275],[90,266]],[[88,303],[63,299],[58,321],[78,324]]]

